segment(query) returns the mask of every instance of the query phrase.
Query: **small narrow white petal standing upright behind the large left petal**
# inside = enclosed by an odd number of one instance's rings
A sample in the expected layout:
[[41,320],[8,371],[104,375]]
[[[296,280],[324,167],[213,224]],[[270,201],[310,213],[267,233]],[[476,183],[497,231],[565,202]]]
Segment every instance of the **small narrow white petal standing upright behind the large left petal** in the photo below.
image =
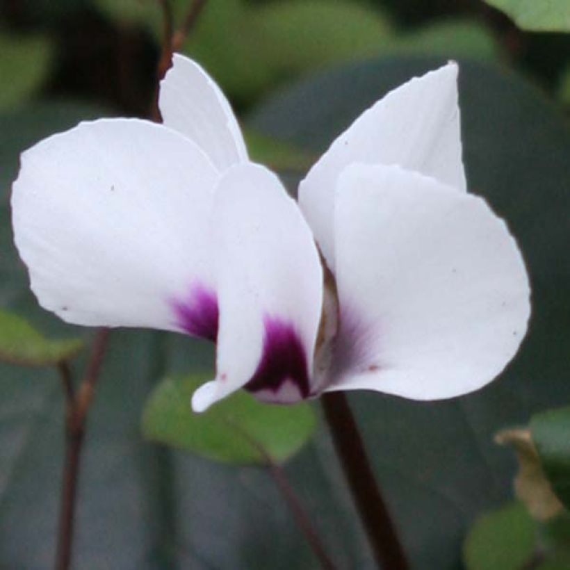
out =
[[231,107],[215,81],[195,61],[174,54],[161,81],[158,106],[167,127],[193,140],[219,170],[247,161]]

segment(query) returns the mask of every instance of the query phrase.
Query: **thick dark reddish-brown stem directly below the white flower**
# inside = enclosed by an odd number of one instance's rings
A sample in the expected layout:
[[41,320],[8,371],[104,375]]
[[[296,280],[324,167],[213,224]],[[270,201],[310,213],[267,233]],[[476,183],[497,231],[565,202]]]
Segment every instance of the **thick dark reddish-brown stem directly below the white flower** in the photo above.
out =
[[346,396],[343,392],[327,392],[321,397],[321,402],[336,453],[378,566],[385,570],[407,570],[409,566],[404,549],[376,484]]

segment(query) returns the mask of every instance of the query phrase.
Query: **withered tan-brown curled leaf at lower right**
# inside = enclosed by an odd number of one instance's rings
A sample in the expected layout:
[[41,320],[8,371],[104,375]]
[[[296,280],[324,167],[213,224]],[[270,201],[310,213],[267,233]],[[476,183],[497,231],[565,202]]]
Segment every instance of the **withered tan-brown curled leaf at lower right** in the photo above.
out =
[[516,496],[525,503],[530,514],[539,521],[552,519],[560,514],[562,503],[553,493],[544,471],[529,430],[502,430],[495,441],[500,445],[510,445],[519,458],[519,473],[514,480]]

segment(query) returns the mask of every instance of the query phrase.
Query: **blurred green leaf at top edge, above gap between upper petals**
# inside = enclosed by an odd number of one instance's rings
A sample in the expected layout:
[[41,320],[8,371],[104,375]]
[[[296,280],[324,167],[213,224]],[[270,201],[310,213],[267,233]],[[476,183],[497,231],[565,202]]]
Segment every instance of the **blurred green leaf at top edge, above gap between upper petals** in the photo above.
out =
[[255,17],[272,65],[288,72],[377,54],[392,35],[380,10],[350,1],[273,2]]

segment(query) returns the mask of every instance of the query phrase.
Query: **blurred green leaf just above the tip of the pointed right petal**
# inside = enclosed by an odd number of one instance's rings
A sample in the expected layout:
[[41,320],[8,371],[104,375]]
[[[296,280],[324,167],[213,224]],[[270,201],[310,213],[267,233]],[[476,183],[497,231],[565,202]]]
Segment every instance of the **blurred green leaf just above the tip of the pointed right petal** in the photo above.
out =
[[500,45],[491,30],[469,19],[446,19],[398,35],[384,52],[494,60]]

